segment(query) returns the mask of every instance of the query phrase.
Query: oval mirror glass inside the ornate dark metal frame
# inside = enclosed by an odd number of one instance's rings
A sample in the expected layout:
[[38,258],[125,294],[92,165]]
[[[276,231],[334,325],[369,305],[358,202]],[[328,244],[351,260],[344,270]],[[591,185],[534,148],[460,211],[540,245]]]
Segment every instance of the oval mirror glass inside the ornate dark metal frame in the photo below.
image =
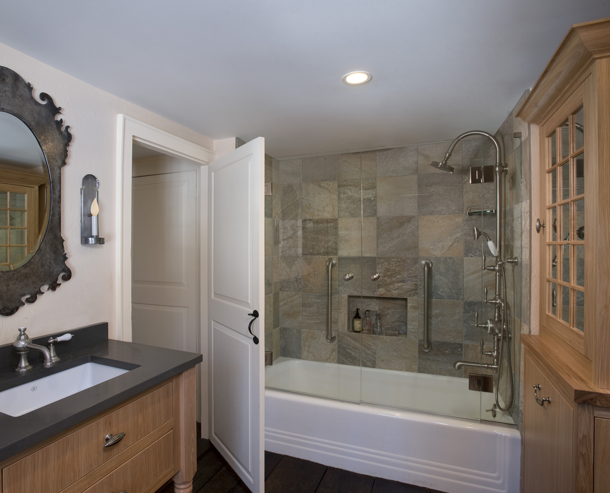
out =
[[38,139],[15,115],[0,112],[0,271],[34,257],[50,211],[49,168]]

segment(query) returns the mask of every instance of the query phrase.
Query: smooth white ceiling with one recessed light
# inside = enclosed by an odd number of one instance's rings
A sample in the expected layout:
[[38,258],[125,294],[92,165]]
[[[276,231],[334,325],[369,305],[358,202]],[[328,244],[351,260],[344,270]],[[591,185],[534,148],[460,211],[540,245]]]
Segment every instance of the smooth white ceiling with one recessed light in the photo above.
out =
[[[0,42],[281,157],[495,132],[570,25],[606,16],[608,0],[22,0],[0,3]],[[346,86],[354,70],[373,80]]]

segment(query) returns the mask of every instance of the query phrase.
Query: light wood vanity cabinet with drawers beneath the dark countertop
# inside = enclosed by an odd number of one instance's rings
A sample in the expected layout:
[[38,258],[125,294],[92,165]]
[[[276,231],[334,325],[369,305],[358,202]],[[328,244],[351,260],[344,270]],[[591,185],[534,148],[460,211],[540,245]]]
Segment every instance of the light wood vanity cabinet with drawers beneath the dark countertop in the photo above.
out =
[[[151,493],[196,470],[195,369],[0,463],[0,493]],[[106,447],[107,434],[125,436]]]

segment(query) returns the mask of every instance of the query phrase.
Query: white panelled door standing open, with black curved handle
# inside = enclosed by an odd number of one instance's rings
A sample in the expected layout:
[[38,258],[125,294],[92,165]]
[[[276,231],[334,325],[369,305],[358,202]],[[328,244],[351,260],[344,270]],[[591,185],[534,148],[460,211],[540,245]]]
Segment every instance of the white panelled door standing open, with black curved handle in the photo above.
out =
[[254,493],[265,491],[264,163],[259,137],[208,166],[210,441]]

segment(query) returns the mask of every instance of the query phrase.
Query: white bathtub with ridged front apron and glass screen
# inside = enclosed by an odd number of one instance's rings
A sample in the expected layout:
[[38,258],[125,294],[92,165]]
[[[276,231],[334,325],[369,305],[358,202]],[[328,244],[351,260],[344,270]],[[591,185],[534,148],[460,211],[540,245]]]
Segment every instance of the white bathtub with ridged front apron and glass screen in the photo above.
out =
[[[268,387],[343,401],[361,395],[359,367],[278,358],[266,372]],[[362,397],[478,418],[480,394],[464,397],[464,381],[362,369]],[[265,389],[265,450],[448,493],[519,492],[515,427],[334,399]]]

